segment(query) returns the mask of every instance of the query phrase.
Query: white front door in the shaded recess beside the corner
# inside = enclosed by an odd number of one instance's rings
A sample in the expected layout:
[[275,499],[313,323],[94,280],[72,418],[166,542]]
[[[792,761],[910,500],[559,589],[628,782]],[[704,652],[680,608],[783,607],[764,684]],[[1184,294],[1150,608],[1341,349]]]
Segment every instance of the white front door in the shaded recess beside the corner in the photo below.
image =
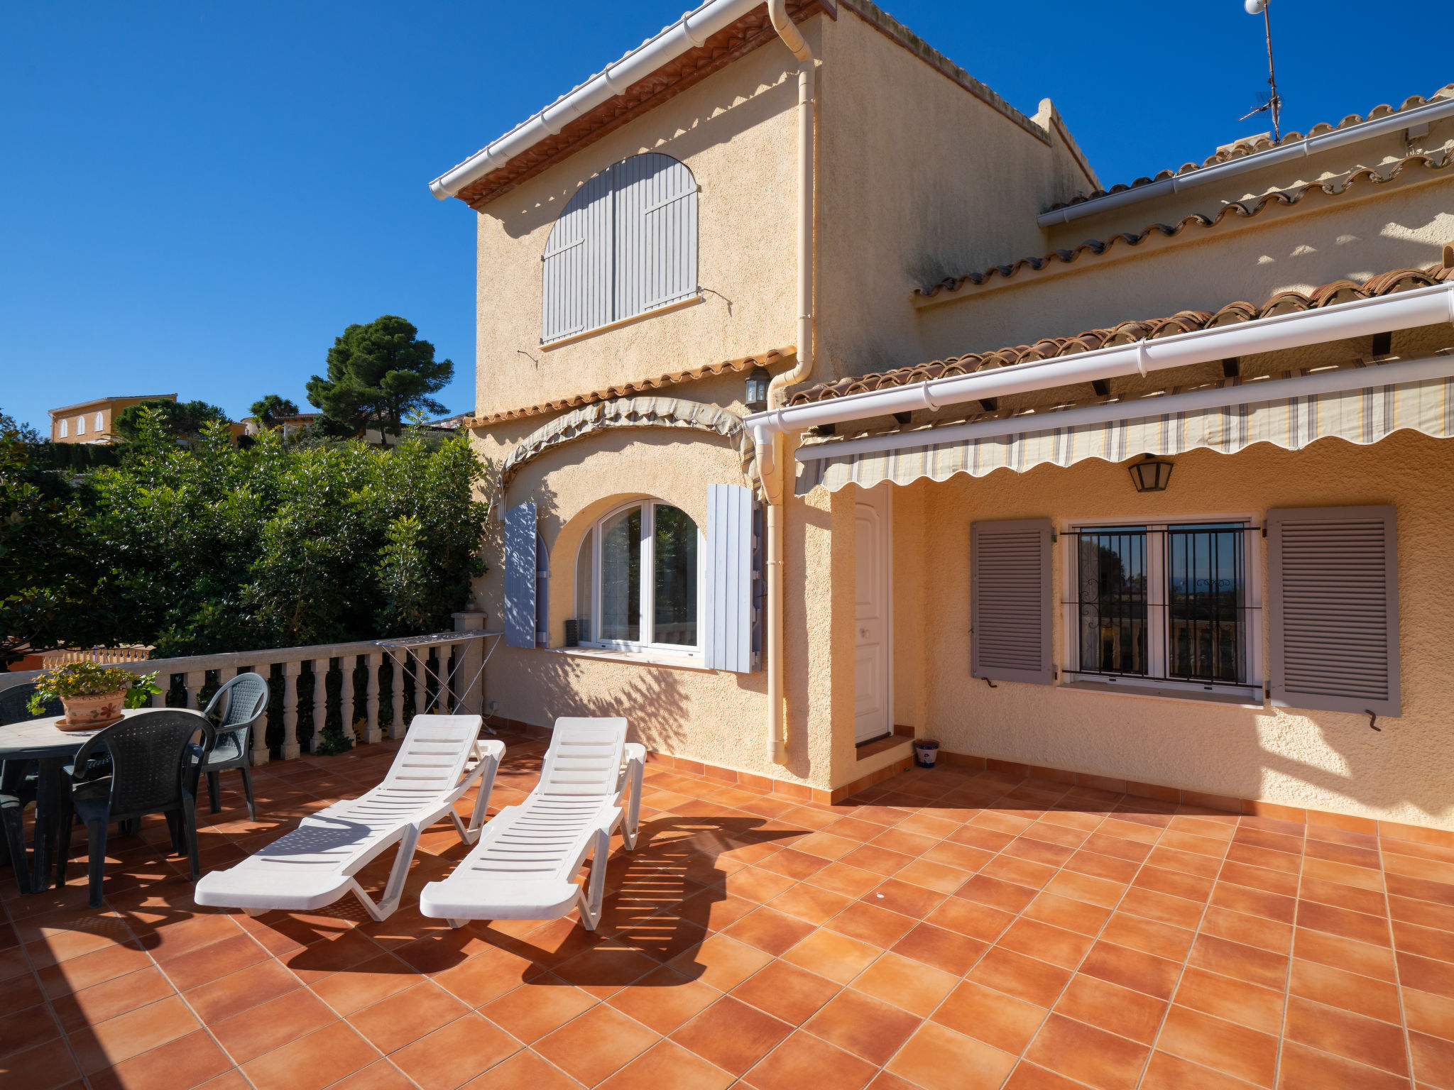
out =
[[893,485],[859,493],[853,507],[853,741],[893,732],[890,661],[890,510]]

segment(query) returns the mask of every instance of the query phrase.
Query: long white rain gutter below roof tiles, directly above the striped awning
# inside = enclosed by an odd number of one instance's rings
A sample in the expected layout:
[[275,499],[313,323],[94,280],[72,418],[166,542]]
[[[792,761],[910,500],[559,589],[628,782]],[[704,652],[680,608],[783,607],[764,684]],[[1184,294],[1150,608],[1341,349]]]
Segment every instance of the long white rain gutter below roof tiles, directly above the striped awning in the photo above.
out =
[[1134,344],[1077,352],[1073,356],[1016,363],[973,375],[932,378],[907,387],[769,408],[743,419],[760,451],[774,433],[867,420],[917,408],[944,408],[965,401],[1028,394],[1077,382],[1147,375],[1192,363],[1282,352],[1330,340],[1454,323],[1454,282],[1415,288],[1373,299],[1355,299],[1316,311],[1256,318],[1239,326],[1178,333]]

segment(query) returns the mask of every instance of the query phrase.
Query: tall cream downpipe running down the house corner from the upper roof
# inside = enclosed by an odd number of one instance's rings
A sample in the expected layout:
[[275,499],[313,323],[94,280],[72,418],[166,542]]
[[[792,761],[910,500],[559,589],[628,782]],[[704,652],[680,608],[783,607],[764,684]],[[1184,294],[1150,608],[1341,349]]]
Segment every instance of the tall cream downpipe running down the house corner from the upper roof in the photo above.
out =
[[[798,362],[768,384],[769,408],[781,407],[784,391],[813,374],[813,51],[788,17],[785,0],[768,0],[772,28],[798,58]],[[758,474],[768,501],[768,757],[788,762],[787,709],[782,701],[782,504],[784,436],[763,436],[756,443]]]

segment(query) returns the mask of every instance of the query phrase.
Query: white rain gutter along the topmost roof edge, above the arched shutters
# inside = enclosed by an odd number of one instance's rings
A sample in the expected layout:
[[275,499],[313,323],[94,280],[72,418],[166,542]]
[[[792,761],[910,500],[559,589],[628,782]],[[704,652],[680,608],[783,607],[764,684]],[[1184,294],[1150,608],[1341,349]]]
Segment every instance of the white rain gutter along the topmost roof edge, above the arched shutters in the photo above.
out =
[[622,94],[631,84],[644,80],[663,64],[705,44],[714,33],[737,22],[760,3],[762,0],[710,0],[695,12],[688,12],[656,38],[648,38],[605,71],[592,76],[529,121],[516,125],[459,166],[436,177],[429,183],[429,189],[441,201],[458,196],[471,182],[499,170],[542,140],[554,137],[576,118]]

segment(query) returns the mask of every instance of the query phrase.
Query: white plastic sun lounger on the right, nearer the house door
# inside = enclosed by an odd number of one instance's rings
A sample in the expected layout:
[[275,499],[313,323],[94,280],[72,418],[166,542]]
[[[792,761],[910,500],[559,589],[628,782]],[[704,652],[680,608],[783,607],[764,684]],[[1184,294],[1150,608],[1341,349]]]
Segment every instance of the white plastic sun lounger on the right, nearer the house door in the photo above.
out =
[[[611,834],[622,820],[625,847],[635,847],[644,766],[646,747],[627,741],[625,719],[555,719],[535,791],[496,814],[448,878],[423,888],[419,911],[459,927],[465,920],[555,920],[579,907],[595,930]],[[587,856],[583,888],[574,879]]]

